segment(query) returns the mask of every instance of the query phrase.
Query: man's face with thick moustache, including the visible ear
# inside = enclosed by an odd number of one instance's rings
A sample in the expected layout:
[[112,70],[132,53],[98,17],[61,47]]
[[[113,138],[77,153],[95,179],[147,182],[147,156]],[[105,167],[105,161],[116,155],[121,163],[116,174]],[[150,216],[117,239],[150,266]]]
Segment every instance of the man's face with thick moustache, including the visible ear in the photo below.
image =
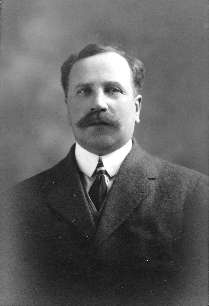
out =
[[107,52],[79,60],[70,72],[67,97],[76,141],[97,155],[119,149],[139,122],[140,100],[121,55]]

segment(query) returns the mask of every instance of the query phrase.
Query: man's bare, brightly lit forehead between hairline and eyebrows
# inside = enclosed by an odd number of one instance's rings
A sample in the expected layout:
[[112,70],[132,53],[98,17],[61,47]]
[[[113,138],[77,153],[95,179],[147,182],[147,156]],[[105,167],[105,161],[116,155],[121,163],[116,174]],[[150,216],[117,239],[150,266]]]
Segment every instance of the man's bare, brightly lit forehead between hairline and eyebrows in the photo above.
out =
[[125,58],[115,52],[96,54],[76,62],[69,76],[69,88],[80,83],[117,81],[132,86],[132,71]]

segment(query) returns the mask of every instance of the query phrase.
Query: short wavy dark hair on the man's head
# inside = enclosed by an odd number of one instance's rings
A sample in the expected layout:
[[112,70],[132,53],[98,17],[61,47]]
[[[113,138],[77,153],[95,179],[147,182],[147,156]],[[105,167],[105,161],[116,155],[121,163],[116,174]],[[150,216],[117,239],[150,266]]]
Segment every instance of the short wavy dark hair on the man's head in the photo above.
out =
[[82,58],[87,58],[105,52],[115,52],[126,59],[133,74],[134,86],[136,88],[136,91],[139,92],[144,79],[144,66],[140,60],[138,60],[137,58],[131,58],[118,47],[103,46],[99,44],[88,44],[79,52],[79,54],[71,54],[70,57],[62,65],[61,81],[66,98],[68,95],[69,74],[73,65]]

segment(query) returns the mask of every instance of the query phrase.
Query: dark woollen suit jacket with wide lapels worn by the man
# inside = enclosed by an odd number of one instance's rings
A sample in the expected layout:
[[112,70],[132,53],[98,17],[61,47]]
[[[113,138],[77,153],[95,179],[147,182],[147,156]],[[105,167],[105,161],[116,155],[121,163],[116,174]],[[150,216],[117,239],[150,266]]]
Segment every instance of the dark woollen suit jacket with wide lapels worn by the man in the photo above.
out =
[[5,301],[206,305],[208,178],[133,139],[95,226],[74,149],[3,200]]

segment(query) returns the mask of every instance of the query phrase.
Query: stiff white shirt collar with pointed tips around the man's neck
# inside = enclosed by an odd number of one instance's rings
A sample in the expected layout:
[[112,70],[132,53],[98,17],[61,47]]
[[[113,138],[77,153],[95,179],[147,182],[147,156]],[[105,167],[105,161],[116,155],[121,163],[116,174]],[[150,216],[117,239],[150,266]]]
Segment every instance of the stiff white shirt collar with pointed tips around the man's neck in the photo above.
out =
[[[117,174],[122,162],[131,151],[131,148],[132,140],[130,139],[118,150],[100,156],[100,159],[110,177]],[[99,156],[83,149],[83,147],[76,142],[75,157],[80,170],[88,177],[91,177],[97,167]]]

